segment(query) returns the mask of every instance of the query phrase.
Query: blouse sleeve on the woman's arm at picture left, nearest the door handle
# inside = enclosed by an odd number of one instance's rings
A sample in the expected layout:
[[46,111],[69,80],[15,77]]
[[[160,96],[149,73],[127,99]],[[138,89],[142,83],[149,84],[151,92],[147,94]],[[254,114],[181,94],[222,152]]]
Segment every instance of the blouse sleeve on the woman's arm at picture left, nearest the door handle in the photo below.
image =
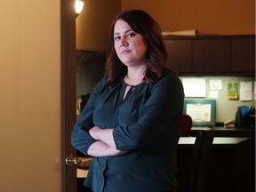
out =
[[82,152],[84,155],[88,155],[88,148],[92,143],[96,142],[92,136],[89,134],[89,130],[94,126],[92,115],[95,108],[95,102],[97,95],[105,85],[104,78],[101,79],[100,83],[94,88],[86,106],[83,109],[82,114],[76,121],[76,124],[71,132],[71,145]]

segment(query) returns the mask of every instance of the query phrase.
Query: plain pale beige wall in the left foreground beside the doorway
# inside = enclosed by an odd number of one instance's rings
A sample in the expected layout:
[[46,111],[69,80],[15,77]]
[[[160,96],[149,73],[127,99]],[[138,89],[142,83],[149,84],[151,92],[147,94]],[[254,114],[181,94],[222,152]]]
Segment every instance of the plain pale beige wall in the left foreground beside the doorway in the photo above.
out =
[[60,191],[60,1],[0,2],[0,188]]

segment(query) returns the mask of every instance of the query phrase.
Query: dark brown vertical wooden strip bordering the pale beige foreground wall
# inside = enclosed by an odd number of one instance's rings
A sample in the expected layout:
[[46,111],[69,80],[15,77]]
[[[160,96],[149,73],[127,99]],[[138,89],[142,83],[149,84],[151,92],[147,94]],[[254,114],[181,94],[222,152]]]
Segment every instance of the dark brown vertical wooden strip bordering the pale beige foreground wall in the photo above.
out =
[[65,164],[71,147],[71,130],[76,123],[76,13],[75,0],[60,1],[61,22],[61,171],[63,192],[76,192],[76,166]]

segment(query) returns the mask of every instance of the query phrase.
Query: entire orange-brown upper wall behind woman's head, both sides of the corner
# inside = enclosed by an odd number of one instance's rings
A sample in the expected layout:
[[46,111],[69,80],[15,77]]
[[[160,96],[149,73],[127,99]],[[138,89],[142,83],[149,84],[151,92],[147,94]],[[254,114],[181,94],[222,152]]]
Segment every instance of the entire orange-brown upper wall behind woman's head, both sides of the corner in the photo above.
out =
[[150,13],[163,31],[197,29],[202,35],[255,33],[255,0],[84,0],[76,19],[76,49],[109,52],[109,25],[121,10]]

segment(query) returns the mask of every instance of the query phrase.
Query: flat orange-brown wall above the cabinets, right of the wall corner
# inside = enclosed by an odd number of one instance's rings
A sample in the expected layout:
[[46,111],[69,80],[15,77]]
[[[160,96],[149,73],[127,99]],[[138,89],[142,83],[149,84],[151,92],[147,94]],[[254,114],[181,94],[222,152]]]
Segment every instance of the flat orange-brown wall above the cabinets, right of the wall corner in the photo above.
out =
[[255,33],[255,0],[121,0],[122,10],[150,13],[163,31],[198,29],[199,34]]

